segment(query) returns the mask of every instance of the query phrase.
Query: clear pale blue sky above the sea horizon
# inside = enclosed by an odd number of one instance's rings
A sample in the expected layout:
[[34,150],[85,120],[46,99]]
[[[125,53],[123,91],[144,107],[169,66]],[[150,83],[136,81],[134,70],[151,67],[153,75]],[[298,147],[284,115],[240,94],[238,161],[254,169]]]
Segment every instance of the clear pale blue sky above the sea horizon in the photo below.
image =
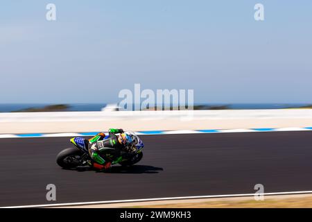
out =
[[309,0],[1,1],[0,103],[119,102],[135,83],[194,89],[197,103],[312,103],[311,12]]

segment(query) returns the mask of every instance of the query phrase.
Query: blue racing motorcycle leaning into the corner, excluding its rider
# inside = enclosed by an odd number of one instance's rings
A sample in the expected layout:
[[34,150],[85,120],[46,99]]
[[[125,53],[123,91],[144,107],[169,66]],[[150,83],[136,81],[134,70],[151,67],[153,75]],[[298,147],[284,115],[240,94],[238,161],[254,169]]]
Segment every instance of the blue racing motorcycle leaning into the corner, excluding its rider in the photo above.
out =
[[[130,167],[137,162],[139,162],[143,157],[143,148],[144,143],[142,140],[135,135],[133,132],[126,132],[132,135],[132,139],[134,139],[134,145],[131,148],[128,148],[128,152],[125,155],[122,155],[121,166]],[[107,139],[106,136],[104,139]],[[73,147],[65,148],[64,150],[58,153],[56,157],[56,162],[58,165],[64,169],[72,169],[76,167],[85,167],[91,166],[92,158],[89,155],[88,147],[89,140],[82,137],[73,137],[70,139]],[[112,165],[116,164],[116,162],[112,162]]]

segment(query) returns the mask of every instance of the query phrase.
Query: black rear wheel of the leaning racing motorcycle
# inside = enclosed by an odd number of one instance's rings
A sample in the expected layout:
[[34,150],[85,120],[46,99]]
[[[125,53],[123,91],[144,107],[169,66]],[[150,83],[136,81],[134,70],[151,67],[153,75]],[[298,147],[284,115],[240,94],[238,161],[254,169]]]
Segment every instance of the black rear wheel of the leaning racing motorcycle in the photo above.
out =
[[58,153],[56,162],[62,168],[69,169],[78,167],[81,164],[81,151],[77,148],[65,148]]

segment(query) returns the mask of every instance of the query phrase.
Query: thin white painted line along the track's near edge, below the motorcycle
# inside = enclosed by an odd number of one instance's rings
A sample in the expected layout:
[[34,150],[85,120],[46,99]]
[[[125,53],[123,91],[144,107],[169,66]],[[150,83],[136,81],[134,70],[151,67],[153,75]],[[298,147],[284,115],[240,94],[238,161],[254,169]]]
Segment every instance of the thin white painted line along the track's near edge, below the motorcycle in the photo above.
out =
[[[274,192],[263,193],[263,196],[272,195],[288,195],[288,194],[312,194],[312,191],[287,191],[287,192]],[[92,201],[92,202],[78,202],[78,203],[55,203],[43,205],[21,205],[0,208],[29,208],[29,207],[62,207],[62,206],[75,206],[75,205],[97,205],[108,203],[131,203],[131,202],[144,202],[144,201],[158,201],[158,200],[187,200],[187,199],[200,199],[200,198],[227,198],[227,197],[241,197],[241,196],[259,196],[259,194],[225,194],[225,195],[207,195],[207,196],[179,196],[179,197],[165,197],[165,198],[145,198],[133,200],[106,200],[106,201]]]

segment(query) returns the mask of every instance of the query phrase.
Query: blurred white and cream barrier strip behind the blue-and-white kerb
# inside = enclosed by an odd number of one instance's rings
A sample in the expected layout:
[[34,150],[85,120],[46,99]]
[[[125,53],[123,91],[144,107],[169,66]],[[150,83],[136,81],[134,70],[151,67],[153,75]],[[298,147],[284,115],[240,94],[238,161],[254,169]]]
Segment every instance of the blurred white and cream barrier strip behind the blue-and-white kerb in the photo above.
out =
[[0,134],[311,126],[312,109],[0,113]]

